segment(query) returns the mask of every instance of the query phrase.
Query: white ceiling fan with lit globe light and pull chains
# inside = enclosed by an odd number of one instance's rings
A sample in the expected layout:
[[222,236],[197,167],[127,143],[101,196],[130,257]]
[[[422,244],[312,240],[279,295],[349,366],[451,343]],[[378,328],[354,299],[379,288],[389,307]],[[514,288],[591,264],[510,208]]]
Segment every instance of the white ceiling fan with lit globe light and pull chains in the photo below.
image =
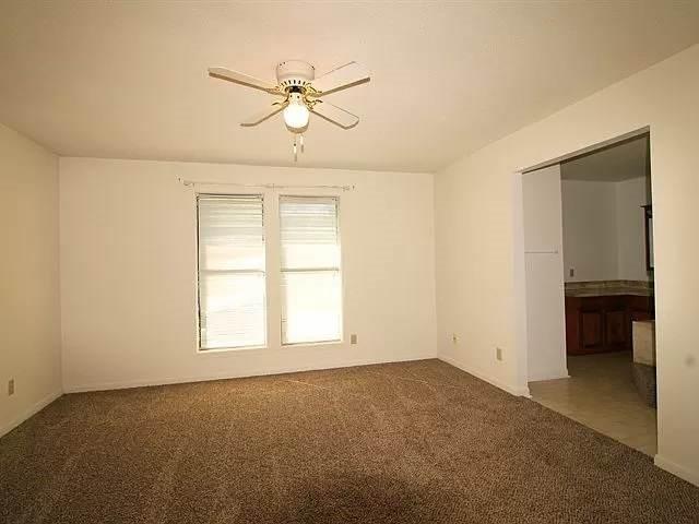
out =
[[303,133],[308,129],[311,112],[342,129],[351,129],[359,123],[359,117],[323,97],[370,80],[369,73],[357,62],[345,63],[316,79],[316,68],[301,60],[286,60],[277,64],[276,84],[226,68],[209,68],[209,74],[280,97],[271,107],[252,115],[240,126],[251,128],[283,111],[284,123],[294,133],[295,162],[298,159],[297,145],[304,151]]

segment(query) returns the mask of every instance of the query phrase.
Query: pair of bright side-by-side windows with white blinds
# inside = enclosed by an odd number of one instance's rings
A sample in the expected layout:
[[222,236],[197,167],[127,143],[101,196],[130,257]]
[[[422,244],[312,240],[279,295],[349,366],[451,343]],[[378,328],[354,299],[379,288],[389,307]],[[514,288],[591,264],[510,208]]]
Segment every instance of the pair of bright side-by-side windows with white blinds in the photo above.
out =
[[[197,198],[200,350],[266,344],[263,205],[260,194]],[[281,312],[283,345],[342,340],[337,207],[334,196],[280,196],[279,222],[266,225],[279,224],[279,250],[270,253],[280,270],[272,310]]]

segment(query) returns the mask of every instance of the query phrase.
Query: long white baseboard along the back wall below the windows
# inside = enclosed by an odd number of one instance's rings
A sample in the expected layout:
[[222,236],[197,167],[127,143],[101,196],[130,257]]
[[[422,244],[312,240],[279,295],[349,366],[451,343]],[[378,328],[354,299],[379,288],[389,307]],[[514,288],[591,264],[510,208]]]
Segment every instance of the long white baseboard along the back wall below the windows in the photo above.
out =
[[63,391],[66,393],[85,393],[90,391],[108,391],[108,390],[126,390],[129,388],[146,388],[151,385],[167,385],[167,384],[183,384],[189,382],[208,382],[211,380],[226,380],[226,379],[242,379],[248,377],[266,377],[271,374],[284,374],[296,373],[301,371],[320,371],[323,369],[341,369],[351,368],[354,366],[370,366],[374,364],[392,364],[392,362],[408,362],[415,360],[427,360],[430,358],[437,358],[434,354],[416,355],[413,357],[403,358],[401,360],[386,360],[386,359],[359,359],[346,362],[333,362],[328,366],[282,366],[274,369],[259,369],[253,371],[246,371],[242,373],[235,373],[230,371],[222,372],[220,374],[201,376],[201,377],[166,377],[159,379],[145,379],[145,380],[129,380],[121,382],[99,382],[93,384],[78,384],[70,385],[63,384]]

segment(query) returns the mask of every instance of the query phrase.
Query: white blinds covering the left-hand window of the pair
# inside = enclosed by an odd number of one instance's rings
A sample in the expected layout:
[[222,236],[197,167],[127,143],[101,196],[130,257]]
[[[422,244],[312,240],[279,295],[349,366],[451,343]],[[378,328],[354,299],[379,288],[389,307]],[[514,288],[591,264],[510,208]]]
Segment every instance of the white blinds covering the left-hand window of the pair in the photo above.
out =
[[200,348],[263,346],[262,196],[200,194],[198,212]]

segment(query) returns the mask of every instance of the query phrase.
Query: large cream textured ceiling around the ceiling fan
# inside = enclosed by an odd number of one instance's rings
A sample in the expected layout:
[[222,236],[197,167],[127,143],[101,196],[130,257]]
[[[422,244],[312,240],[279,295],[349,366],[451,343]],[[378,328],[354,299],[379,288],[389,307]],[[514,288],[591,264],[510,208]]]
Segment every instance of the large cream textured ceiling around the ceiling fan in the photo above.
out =
[[699,2],[2,2],[0,122],[61,155],[293,165],[268,95],[298,58],[372,80],[329,97],[299,166],[427,170],[696,43]]

